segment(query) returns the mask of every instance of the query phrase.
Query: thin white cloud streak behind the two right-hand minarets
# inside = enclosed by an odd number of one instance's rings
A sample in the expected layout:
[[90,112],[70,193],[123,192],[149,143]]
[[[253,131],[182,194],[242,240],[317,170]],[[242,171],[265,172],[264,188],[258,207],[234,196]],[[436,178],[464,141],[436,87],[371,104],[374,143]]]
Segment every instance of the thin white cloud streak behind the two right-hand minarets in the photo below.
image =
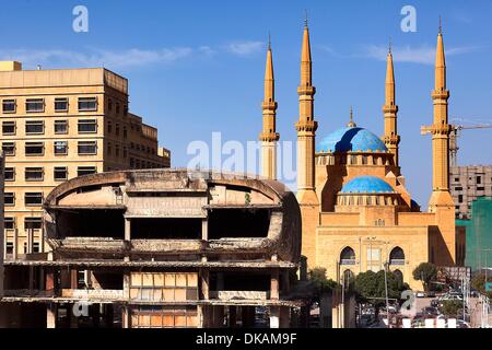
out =
[[[480,49],[478,46],[454,47],[446,50],[446,56],[468,54]],[[435,46],[422,45],[420,47],[393,47],[393,59],[397,62],[411,62],[422,65],[434,65]],[[365,56],[378,60],[386,60],[388,46],[371,45],[365,49]]]

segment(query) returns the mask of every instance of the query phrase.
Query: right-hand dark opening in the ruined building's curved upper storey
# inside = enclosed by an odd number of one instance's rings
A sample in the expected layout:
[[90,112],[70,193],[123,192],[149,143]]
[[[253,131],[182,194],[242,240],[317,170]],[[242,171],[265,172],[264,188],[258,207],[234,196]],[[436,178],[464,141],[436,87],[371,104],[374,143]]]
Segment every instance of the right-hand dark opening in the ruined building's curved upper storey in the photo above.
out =
[[268,209],[214,209],[209,214],[209,238],[267,237]]

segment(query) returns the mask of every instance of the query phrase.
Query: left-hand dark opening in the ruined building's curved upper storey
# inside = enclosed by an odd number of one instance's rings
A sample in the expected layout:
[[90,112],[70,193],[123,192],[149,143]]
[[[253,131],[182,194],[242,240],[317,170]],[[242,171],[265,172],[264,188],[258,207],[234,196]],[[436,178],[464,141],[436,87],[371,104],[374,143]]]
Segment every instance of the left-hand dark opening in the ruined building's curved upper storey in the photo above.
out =
[[63,237],[110,237],[124,240],[124,211],[116,209],[73,210],[59,212],[57,232]]

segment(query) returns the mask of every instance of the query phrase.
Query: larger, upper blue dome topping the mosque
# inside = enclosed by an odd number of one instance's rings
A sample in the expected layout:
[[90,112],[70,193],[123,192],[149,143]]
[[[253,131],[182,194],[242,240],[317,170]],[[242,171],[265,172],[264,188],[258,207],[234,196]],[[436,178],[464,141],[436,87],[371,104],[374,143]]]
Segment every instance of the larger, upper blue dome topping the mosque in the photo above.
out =
[[339,129],[323,138],[316,147],[316,152],[348,151],[386,152],[388,149],[377,136],[358,127]]

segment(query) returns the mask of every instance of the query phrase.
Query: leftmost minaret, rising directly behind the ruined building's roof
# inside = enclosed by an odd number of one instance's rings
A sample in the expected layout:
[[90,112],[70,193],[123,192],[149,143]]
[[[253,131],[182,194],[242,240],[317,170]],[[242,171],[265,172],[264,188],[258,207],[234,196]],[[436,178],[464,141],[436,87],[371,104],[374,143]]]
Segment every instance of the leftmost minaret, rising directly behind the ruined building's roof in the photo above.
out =
[[265,98],[262,110],[263,127],[259,136],[259,140],[261,141],[261,175],[266,178],[277,179],[277,141],[280,136],[276,132],[277,102],[270,39],[268,40],[267,63],[265,68]]

